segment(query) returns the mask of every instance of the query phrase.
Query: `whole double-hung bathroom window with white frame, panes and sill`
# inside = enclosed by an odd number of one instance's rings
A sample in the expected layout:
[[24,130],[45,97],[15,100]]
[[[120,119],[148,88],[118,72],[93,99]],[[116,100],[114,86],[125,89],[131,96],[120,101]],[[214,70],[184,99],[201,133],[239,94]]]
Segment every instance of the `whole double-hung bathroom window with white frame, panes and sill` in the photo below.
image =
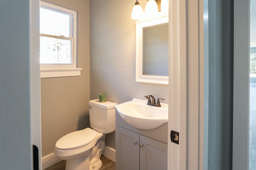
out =
[[40,2],[41,78],[80,76],[76,66],[76,11]]

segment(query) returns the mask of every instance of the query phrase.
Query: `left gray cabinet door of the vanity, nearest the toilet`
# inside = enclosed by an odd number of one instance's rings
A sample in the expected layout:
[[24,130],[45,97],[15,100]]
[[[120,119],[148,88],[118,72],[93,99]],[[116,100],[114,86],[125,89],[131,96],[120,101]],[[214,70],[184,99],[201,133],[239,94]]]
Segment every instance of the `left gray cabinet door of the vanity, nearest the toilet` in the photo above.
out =
[[139,141],[138,133],[116,126],[116,170],[139,170]]

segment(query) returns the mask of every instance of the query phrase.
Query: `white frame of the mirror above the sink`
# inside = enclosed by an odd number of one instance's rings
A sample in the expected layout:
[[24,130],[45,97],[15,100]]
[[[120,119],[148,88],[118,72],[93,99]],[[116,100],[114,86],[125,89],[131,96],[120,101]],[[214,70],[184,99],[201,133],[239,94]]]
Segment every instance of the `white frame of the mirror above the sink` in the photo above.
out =
[[168,16],[159,16],[149,20],[140,20],[136,22],[136,82],[153,83],[153,84],[168,84],[169,76],[151,76],[142,74],[142,59],[143,59],[143,28],[152,25],[168,23]]

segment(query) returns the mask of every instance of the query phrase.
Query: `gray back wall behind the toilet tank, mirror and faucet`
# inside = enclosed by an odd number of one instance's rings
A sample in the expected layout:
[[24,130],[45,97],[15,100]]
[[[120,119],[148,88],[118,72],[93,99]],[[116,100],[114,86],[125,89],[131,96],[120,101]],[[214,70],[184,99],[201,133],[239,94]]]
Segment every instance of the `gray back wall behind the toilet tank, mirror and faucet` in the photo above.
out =
[[[135,82],[134,2],[90,0],[90,99],[106,93],[120,104],[152,94],[168,103],[168,85]],[[144,8],[146,1],[140,4]],[[114,132],[106,135],[106,145],[115,148]]]

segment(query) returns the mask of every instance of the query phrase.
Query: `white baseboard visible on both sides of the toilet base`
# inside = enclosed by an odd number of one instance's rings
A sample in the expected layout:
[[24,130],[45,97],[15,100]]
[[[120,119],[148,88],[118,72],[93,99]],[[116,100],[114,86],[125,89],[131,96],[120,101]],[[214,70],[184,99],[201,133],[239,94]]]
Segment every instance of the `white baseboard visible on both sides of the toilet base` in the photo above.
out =
[[[102,154],[104,156],[106,156],[107,158],[116,162],[116,150],[115,149],[110,148],[109,146],[106,145],[102,151]],[[60,161],[61,161],[61,159],[57,158],[54,155],[54,153],[48,154],[48,155],[42,157],[42,168],[44,170],[45,168],[48,168],[49,166],[52,166]]]

